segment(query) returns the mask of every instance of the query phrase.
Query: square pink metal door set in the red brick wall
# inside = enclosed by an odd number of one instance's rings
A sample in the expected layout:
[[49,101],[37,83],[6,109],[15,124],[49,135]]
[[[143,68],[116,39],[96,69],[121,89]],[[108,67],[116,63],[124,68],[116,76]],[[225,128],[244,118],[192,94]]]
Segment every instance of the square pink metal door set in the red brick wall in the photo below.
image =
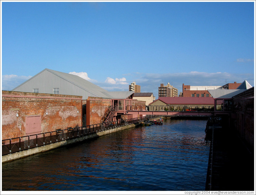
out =
[[41,133],[41,115],[26,116],[26,135]]

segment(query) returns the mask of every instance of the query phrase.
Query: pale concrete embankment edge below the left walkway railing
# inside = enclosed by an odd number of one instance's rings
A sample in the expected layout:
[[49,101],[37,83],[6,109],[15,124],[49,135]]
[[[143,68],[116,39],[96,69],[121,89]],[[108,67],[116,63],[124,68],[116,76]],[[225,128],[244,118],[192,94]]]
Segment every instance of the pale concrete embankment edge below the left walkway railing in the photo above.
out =
[[93,133],[93,134],[73,138],[73,139],[70,139],[70,140],[60,141],[60,142],[53,143],[53,144],[48,144],[48,145],[44,145],[44,146],[40,146],[40,147],[36,147],[36,148],[32,148],[32,149],[20,151],[20,152],[15,152],[15,153],[12,153],[12,154],[7,154],[7,155],[2,156],[2,163],[7,163],[7,162],[10,162],[10,161],[13,161],[13,160],[16,160],[16,159],[25,158],[25,157],[32,156],[34,154],[41,153],[41,152],[47,152],[49,150],[53,150],[53,149],[61,147],[61,146],[66,146],[68,144],[73,144],[73,143],[76,143],[76,142],[79,142],[79,141],[88,140],[88,139],[91,139],[91,138],[95,138],[95,137],[99,137],[99,136],[102,136],[102,135],[110,134],[110,133],[113,133],[113,132],[116,132],[116,131],[129,129],[129,128],[135,127],[139,124],[140,123],[124,125],[124,126],[121,126],[121,127],[108,129],[108,130],[101,131],[101,132],[96,132],[96,133]]

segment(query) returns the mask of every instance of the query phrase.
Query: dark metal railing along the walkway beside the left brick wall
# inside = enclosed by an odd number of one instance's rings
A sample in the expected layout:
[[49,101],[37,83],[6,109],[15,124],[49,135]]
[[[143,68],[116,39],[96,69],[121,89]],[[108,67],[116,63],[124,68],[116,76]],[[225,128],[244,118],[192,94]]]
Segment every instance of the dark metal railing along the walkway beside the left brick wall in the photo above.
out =
[[68,127],[67,129],[56,129],[55,131],[40,133],[35,135],[26,135],[21,137],[2,140],[2,156],[28,150],[31,148],[44,146],[64,140],[74,139],[85,135],[113,129],[129,124],[139,123],[146,119],[160,117],[159,115],[147,115],[145,117],[131,118],[126,120],[112,121],[109,126],[103,123],[87,125],[83,127]]

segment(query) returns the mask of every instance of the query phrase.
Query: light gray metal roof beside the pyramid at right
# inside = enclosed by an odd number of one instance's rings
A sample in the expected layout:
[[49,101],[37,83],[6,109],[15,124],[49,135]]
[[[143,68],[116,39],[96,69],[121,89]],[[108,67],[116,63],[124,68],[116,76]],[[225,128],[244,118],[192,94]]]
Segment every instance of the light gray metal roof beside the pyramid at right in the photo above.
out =
[[247,89],[209,89],[208,92],[213,98],[232,98],[246,90]]

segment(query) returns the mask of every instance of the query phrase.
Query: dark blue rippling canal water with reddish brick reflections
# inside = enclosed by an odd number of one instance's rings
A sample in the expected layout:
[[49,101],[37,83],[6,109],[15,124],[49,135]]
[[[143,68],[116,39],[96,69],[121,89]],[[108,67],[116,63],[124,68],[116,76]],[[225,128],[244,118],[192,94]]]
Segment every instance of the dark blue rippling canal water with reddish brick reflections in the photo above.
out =
[[164,119],[2,164],[2,190],[205,190],[205,120]]

